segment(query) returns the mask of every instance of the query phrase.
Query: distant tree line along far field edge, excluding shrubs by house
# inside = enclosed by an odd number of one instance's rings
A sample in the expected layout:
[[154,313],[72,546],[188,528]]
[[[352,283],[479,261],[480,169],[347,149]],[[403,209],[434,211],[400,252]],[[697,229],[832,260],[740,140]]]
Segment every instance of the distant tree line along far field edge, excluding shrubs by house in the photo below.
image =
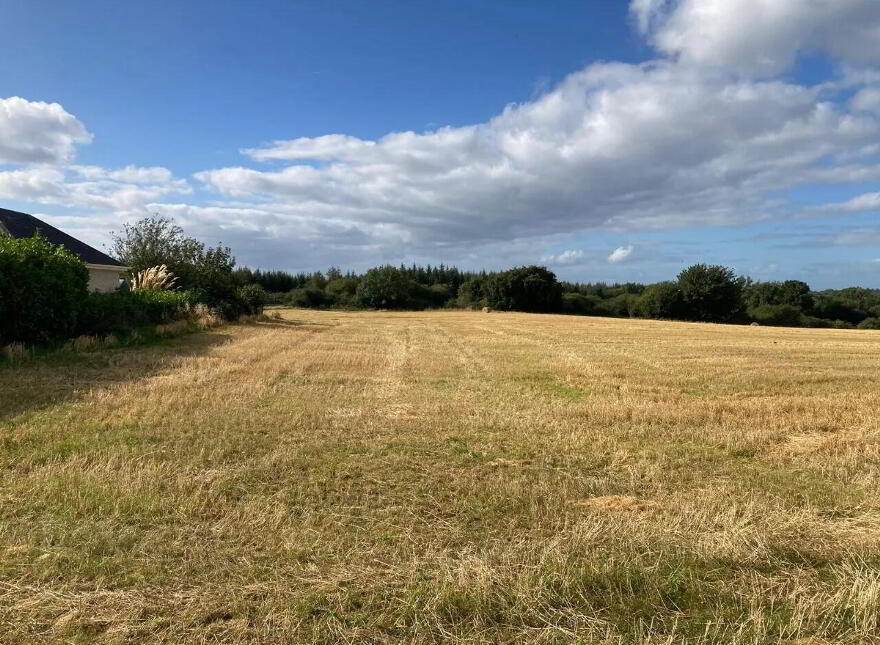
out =
[[287,273],[238,269],[240,285],[260,285],[270,302],[296,307],[428,309],[489,307],[791,327],[880,329],[880,289],[813,291],[800,280],[757,282],[733,269],[695,264],[675,280],[640,284],[561,282],[541,266],[462,271],[439,266],[379,266],[364,273],[333,267]]

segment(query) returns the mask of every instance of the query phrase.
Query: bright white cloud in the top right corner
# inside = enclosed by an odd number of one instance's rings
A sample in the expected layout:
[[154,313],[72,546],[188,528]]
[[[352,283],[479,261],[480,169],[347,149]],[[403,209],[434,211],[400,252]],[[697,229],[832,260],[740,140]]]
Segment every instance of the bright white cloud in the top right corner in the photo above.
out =
[[772,76],[799,53],[880,62],[874,0],[635,0],[630,10],[655,47],[685,64]]

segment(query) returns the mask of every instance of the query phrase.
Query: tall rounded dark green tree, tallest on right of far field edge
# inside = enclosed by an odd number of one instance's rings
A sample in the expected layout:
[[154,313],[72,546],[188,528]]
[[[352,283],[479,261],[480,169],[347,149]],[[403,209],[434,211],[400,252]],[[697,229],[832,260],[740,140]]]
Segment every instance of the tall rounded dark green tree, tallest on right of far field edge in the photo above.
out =
[[743,282],[732,269],[695,264],[678,274],[685,318],[729,322],[743,309]]

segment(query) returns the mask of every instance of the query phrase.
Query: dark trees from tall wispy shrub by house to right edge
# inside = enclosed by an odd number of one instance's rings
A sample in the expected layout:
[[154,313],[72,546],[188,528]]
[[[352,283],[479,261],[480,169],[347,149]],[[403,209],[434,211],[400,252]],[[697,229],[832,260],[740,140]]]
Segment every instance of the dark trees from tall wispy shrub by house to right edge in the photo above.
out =
[[227,318],[264,302],[308,308],[439,309],[657,318],[798,327],[880,328],[880,289],[813,291],[800,280],[758,282],[695,264],[653,284],[562,282],[541,266],[464,271],[440,265],[337,267],[313,273],[236,268],[228,247],[207,247],[168,218],[145,218],[114,235],[112,254],[135,271],[166,265],[178,288]]

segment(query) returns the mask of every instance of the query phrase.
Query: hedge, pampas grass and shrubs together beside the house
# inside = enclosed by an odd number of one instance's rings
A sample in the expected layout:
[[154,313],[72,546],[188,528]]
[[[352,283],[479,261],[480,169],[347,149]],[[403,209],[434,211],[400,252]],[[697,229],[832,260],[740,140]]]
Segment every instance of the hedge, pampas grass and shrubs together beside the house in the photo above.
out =
[[[132,268],[130,280],[110,293],[90,293],[88,270],[77,256],[45,238],[0,235],[0,347],[52,346],[74,338],[78,345],[112,336],[131,338],[168,329],[212,326],[260,315],[265,292],[233,278],[228,249],[206,249],[173,222],[147,218],[115,235],[114,252]],[[156,262],[156,264],[150,264]],[[166,263],[172,263],[172,272]],[[148,329],[150,328],[150,329]],[[88,340],[87,340],[88,339]]]

